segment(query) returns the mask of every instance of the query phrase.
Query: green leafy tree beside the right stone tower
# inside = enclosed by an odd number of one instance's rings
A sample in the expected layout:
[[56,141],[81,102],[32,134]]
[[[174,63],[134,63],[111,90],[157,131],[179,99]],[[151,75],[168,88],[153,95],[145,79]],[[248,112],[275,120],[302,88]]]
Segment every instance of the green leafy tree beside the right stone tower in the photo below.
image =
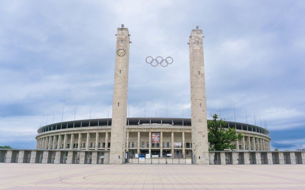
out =
[[227,126],[227,123],[221,118],[218,119],[218,115],[213,115],[213,120],[208,120],[208,141],[212,147],[210,150],[222,151],[224,149],[235,149],[235,145],[231,144],[233,141],[238,141],[243,136],[241,133],[236,133],[235,128],[229,128],[226,130],[223,128]]

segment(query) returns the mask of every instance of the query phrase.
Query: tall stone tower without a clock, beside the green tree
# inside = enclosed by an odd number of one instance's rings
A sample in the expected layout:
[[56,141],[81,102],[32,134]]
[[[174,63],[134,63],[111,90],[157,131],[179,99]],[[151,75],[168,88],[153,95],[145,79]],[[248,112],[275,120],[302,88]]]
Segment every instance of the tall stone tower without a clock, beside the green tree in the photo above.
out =
[[196,27],[189,36],[191,78],[192,150],[195,164],[209,164],[206,121],[206,85],[204,79],[203,35]]

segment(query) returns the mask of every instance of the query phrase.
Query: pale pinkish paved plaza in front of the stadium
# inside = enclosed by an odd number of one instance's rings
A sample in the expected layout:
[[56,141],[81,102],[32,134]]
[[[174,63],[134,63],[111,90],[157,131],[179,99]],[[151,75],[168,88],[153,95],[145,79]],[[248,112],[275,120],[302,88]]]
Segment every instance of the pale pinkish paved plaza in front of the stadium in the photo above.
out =
[[0,189],[305,189],[305,165],[1,163]]

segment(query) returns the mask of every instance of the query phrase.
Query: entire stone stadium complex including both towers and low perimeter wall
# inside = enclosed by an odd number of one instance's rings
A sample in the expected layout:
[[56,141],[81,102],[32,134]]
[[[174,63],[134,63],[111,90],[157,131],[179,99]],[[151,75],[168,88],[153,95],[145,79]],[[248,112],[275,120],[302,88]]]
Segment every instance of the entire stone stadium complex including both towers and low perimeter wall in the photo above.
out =
[[130,35],[117,29],[112,118],[42,126],[34,150],[0,149],[6,163],[305,164],[304,151],[271,151],[269,131],[229,122],[242,133],[236,150],[209,151],[203,33],[189,36],[191,118],[127,118]]

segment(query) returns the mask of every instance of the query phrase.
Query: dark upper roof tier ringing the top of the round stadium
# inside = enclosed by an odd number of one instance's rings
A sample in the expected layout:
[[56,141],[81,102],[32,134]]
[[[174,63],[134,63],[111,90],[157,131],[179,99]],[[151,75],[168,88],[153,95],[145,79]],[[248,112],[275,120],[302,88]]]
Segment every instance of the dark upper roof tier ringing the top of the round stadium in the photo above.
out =
[[[239,122],[231,122],[225,121],[227,123],[224,128],[236,128],[238,130],[246,130],[257,133],[262,133],[264,135],[269,136],[269,131],[255,125],[239,123]],[[162,124],[163,127],[166,125],[171,126],[191,126],[191,119],[189,118],[127,118],[126,125],[139,125],[139,126],[147,126],[149,124]],[[111,127],[111,118],[104,119],[83,119],[76,121],[66,121],[59,123],[52,123],[46,126],[40,127],[37,132],[43,133],[51,130],[60,130],[60,129],[69,129],[69,128],[77,128],[77,127],[96,127],[96,126],[109,126]]]

